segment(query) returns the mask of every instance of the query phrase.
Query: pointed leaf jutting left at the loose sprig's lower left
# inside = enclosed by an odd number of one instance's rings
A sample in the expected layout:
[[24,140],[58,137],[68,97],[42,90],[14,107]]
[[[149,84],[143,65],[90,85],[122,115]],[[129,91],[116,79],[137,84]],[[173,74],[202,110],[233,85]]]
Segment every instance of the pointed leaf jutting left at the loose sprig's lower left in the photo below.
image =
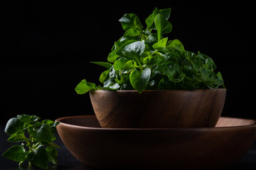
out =
[[14,162],[22,162],[26,159],[26,153],[19,145],[10,147],[6,152],[4,152],[4,154],[2,154],[2,156],[7,159],[11,159]]

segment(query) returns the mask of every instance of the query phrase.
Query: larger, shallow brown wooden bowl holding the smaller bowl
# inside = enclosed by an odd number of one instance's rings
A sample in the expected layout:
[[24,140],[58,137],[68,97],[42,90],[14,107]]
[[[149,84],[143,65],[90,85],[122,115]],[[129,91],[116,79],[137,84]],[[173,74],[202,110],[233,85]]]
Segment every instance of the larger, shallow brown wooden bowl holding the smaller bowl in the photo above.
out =
[[103,169],[219,169],[238,162],[255,120],[220,118],[216,128],[100,128],[95,116],[58,118],[60,138],[87,166]]

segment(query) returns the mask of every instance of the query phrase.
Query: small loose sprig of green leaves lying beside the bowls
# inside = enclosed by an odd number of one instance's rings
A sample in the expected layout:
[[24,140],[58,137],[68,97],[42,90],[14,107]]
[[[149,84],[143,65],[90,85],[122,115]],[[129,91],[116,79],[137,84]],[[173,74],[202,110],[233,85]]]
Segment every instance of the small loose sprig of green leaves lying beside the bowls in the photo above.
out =
[[8,142],[21,142],[21,145],[10,147],[2,156],[19,162],[19,166],[28,160],[29,164],[42,169],[48,169],[48,162],[57,164],[60,148],[53,141],[56,140],[55,128],[59,124],[52,120],[39,121],[36,115],[17,115],[11,118],[4,132],[9,135]]

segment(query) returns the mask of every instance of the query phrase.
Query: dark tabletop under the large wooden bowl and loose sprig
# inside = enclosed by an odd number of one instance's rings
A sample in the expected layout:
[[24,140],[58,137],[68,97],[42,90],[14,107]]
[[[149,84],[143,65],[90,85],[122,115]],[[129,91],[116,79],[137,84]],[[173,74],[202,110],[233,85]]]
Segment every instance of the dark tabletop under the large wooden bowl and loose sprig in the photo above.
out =
[[[6,151],[9,147],[13,144],[10,142],[6,142],[8,136],[4,132],[4,125],[0,126],[0,139],[1,139],[1,149],[0,153]],[[69,170],[69,169],[83,169],[83,170],[92,170],[94,168],[88,167],[82,163],[80,163],[75,157],[73,157],[68,149],[65,147],[63,142],[60,140],[60,137],[56,133],[57,140],[55,141],[62,149],[58,149],[58,166],[54,166],[50,164],[49,169],[62,169],[62,170]],[[0,169],[1,170],[36,170],[38,169],[36,166],[28,167],[27,164],[24,164],[23,167],[18,168],[17,162],[12,162],[9,159],[5,159],[4,157],[0,157]],[[228,170],[255,170],[256,169],[256,141],[250,147],[247,154],[232,167],[226,168]]]

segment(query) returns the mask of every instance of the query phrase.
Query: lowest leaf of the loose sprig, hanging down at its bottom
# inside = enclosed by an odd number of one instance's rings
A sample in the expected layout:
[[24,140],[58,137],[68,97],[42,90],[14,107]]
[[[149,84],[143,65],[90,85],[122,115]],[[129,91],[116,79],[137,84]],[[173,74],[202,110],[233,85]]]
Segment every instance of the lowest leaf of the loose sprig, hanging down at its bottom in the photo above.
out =
[[48,169],[48,152],[42,147],[39,149],[31,149],[31,151],[28,152],[27,159],[31,164],[42,169]]

